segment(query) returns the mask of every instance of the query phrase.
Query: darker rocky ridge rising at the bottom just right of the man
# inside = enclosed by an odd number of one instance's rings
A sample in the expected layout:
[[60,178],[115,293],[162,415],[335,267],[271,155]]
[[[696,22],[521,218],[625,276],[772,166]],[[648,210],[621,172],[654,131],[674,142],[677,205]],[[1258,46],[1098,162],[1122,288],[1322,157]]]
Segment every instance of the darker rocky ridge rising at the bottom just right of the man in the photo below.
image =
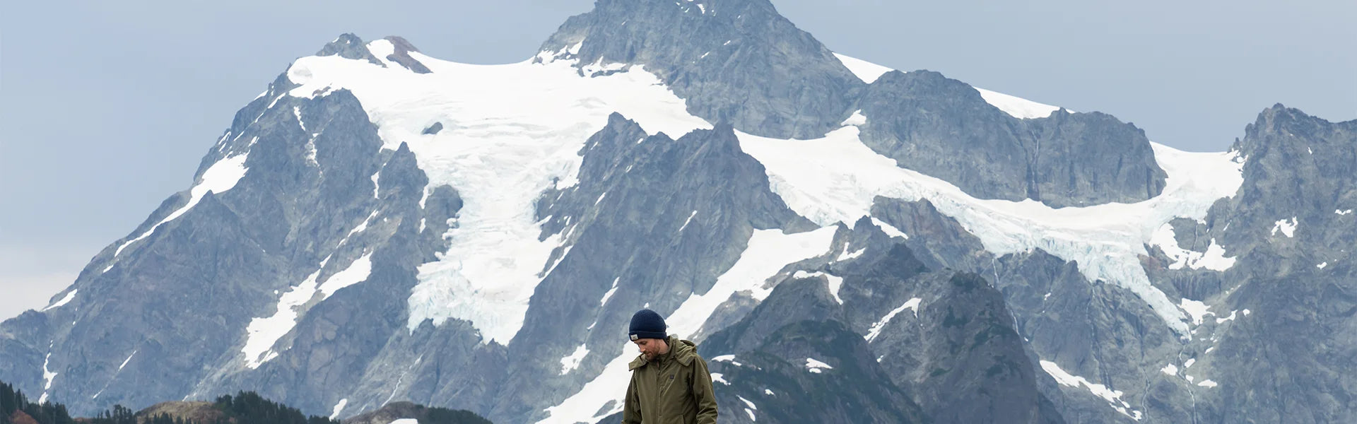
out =
[[737,423],[749,421],[738,398],[759,404],[757,423],[1064,423],[988,281],[930,270],[870,222],[839,241],[862,254],[801,264],[841,279],[836,294],[824,276],[788,279],[700,345],[723,357],[711,368]]

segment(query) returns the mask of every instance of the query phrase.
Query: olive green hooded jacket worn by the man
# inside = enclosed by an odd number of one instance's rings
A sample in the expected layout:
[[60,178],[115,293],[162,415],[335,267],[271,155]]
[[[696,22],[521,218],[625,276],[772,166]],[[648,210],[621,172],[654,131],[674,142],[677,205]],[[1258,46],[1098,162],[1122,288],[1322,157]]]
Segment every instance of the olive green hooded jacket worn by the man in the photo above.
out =
[[716,424],[707,361],[692,341],[669,336],[669,353],[632,360],[623,424]]

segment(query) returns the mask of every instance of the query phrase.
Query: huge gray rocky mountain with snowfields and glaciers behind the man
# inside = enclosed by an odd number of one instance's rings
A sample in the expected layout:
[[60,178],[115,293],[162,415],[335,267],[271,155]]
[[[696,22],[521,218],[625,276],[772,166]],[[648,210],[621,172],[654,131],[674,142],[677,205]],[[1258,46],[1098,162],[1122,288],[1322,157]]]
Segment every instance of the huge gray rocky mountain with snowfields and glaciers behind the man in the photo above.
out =
[[345,34],[0,325],[0,378],[609,421],[650,307],[731,423],[1350,421],[1354,132],[1182,152],[767,0],[601,0],[503,65]]

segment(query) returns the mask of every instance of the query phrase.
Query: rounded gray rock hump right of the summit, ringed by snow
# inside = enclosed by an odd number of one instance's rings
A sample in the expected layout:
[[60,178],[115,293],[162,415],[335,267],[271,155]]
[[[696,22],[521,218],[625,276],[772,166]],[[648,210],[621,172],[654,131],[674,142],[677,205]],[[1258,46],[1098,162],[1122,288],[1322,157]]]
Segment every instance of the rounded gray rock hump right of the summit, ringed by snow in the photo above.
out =
[[1136,202],[1163,192],[1144,132],[1102,113],[1019,120],[936,72],[887,72],[858,101],[863,141],[981,198],[1052,207]]

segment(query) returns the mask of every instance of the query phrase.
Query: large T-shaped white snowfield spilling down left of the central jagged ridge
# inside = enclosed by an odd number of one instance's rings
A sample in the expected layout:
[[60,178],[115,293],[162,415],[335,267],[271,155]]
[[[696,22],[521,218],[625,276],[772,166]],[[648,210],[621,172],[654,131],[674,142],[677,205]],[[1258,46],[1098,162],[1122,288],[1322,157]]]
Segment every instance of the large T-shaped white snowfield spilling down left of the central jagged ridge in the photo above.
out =
[[[369,49],[387,52],[389,43],[373,41]],[[573,61],[552,60],[552,53],[540,54],[540,64],[506,65],[410,56],[433,73],[324,56],[299,58],[288,77],[301,84],[290,91],[294,96],[350,90],[387,148],[408,143],[429,188],[449,185],[461,194],[457,227],[445,234],[452,249],[419,268],[410,295],[411,332],[426,319],[441,325],[457,318],[471,321],[483,342],[513,338],[563,239],[537,241],[533,201],[548,188],[574,185],[582,160],[577,152],[609,114],[622,113],[651,135],[711,128],[642,67],[581,77]],[[422,133],[436,122],[444,130]]]

